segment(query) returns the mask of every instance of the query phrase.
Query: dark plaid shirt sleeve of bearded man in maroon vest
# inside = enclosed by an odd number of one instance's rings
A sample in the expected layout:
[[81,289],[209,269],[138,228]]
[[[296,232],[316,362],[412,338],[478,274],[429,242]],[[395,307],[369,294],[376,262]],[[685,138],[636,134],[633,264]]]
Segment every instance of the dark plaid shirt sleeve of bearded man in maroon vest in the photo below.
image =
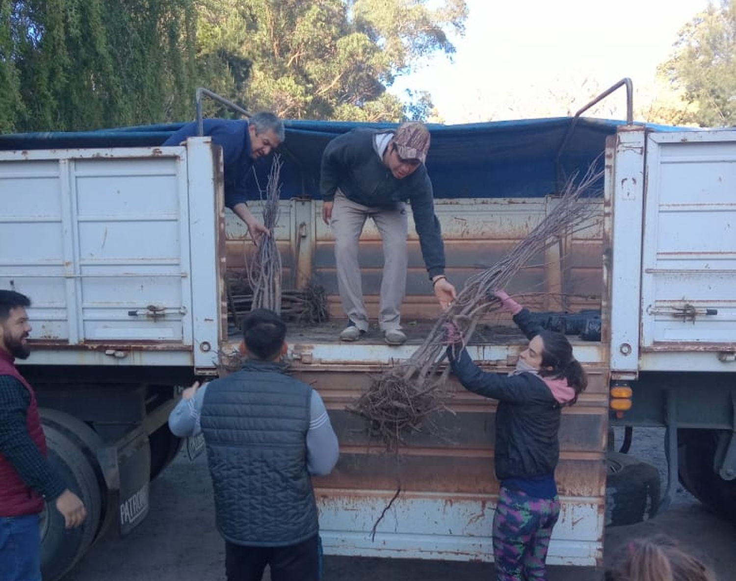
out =
[[0,454],[26,485],[46,500],[53,500],[67,487],[28,433],[26,413],[30,403],[31,396],[18,379],[0,375]]

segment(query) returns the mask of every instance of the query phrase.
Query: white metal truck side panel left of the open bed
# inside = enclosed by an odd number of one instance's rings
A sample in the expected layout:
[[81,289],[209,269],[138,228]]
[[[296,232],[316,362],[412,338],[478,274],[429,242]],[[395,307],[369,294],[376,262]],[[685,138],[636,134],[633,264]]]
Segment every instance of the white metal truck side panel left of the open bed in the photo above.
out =
[[215,366],[219,151],[163,151],[0,153],[0,287],[32,298],[28,363]]

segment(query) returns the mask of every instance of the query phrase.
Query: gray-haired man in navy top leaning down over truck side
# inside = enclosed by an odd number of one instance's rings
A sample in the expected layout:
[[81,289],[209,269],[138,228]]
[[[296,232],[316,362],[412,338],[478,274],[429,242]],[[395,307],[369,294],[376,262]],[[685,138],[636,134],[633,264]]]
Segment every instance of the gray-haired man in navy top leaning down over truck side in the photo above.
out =
[[[266,157],[283,143],[286,133],[281,121],[273,113],[255,113],[244,119],[205,119],[204,135],[212,143],[222,146],[225,206],[245,222],[253,242],[269,229],[251,213],[247,205],[248,173],[253,162]],[[192,121],[177,130],[163,142],[165,146],[177,146],[186,138],[197,136],[197,123]]]

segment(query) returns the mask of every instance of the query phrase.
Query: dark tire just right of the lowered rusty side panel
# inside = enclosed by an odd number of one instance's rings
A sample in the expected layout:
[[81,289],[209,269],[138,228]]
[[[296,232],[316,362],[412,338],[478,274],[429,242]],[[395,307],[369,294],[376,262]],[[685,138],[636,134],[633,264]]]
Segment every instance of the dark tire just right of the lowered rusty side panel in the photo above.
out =
[[656,515],[660,502],[657,468],[620,452],[608,452],[606,464],[606,527],[635,524]]

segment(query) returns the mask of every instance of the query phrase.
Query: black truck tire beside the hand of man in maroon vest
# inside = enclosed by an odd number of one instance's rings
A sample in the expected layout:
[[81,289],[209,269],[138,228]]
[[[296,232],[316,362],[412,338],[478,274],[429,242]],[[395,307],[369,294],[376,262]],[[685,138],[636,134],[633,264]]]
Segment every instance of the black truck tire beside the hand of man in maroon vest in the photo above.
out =
[[47,502],[41,515],[41,573],[55,581],[85,554],[99,528],[102,498],[94,469],[71,438],[55,427],[44,425],[49,463],[66,487],[77,494],[87,508],[87,518],[75,529],[64,528],[64,517],[54,502]]

